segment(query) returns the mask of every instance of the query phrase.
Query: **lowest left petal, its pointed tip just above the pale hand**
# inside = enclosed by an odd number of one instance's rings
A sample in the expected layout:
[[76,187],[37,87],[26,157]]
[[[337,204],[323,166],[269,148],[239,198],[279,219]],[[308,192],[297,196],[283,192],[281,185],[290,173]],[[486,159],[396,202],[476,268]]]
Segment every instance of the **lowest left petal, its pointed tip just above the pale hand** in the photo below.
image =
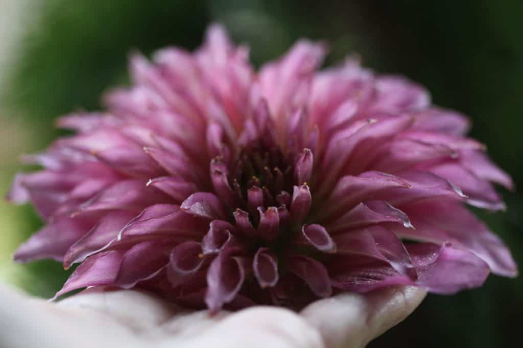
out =
[[114,284],[123,254],[123,250],[109,250],[87,258],[54,298],[82,287]]

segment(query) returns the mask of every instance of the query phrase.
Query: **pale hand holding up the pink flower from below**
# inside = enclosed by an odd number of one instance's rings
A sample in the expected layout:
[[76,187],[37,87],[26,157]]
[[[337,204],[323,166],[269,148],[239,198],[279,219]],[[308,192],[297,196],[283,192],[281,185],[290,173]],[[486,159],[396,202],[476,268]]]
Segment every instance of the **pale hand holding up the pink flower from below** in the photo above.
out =
[[267,306],[191,311],[141,291],[94,287],[58,303],[0,284],[0,346],[8,348],[363,347],[401,322],[426,292],[343,294],[299,313]]

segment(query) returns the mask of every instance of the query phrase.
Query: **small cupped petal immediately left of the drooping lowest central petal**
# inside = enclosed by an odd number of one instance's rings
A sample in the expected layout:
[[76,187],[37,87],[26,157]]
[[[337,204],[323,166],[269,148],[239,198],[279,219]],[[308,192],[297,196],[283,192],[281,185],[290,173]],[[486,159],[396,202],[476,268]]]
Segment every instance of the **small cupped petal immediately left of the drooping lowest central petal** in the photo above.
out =
[[178,286],[193,277],[205,261],[201,244],[187,241],[176,246],[170,254],[167,277],[173,286]]

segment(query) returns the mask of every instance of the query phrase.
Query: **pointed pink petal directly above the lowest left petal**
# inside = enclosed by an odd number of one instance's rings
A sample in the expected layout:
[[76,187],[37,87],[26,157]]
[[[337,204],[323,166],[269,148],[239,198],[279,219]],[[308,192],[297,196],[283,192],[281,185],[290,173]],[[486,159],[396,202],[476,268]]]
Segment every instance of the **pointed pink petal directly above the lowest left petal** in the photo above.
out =
[[67,250],[63,259],[64,267],[69,268],[73,263],[82,262],[86,257],[104,249],[118,237],[121,229],[135,215],[134,212],[129,211],[113,211],[105,215],[89,233],[85,234]]

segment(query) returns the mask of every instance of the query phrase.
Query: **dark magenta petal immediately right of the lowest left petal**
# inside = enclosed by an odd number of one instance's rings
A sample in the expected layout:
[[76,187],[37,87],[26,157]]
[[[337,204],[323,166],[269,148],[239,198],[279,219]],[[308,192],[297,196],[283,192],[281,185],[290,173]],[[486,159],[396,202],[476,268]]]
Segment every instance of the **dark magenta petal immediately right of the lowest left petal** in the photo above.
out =
[[131,289],[138,282],[153,278],[169,261],[173,243],[147,241],[135,244],[123,255],[115,284]]

